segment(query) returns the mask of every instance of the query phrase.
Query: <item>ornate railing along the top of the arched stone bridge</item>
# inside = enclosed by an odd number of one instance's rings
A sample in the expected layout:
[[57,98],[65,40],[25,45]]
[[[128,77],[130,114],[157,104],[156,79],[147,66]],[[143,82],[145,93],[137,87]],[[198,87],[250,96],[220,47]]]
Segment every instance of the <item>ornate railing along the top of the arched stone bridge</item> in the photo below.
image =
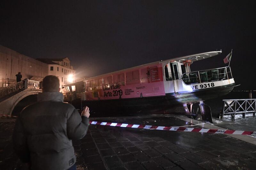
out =
[[8,99],[9,97],[27,89],[40,89],[40,82],[28,80],[27,78],[0,89],[0,102]]

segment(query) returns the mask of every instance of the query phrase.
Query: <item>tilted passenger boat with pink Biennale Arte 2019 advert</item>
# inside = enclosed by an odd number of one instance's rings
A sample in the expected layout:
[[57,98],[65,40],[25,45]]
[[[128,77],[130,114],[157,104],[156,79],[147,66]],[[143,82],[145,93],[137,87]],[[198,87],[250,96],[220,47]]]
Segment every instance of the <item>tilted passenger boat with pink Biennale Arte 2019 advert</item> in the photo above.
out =
[[[205,100],[226,95],[235,86],[231,68],[191,71],[193,62],[220,55],[211,51],[161,60],[65,85],[66,101],[101,113],[149,113],[182,105],[185,115],[195,115],[199,103],[202,119],[212,122]],[[111,65],[109,65],[111,66]]]

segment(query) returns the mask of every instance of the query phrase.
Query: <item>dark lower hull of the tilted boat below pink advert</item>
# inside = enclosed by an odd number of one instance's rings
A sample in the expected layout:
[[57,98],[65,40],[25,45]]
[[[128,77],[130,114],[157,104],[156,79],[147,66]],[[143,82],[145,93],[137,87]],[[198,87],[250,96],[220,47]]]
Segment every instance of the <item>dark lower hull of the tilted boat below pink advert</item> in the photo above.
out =
[[[141,97],[130,99],[115,100],[81,100],[72,101],[76,108],[84,106],[90,107],[90,110],[96,113],[150,113],[164,111],[174,106],[182,104],[197,103],[212,98],[217,98],[231,92],[235,84],[225,85],[216,88],[201,89],[185,93],[167,93],[164,96]],[[82,107],[81,107],[82,104]],[[106,116],[106,115],[105,115]]]

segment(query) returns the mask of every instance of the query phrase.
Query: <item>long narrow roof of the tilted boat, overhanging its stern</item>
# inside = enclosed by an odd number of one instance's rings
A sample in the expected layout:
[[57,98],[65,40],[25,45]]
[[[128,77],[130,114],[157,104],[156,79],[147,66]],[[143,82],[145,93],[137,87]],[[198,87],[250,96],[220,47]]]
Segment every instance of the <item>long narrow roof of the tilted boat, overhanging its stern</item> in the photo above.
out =
[[142,66],[151,65],[153,63],[166,63],[166,62],[171,63],[171,62],[176,61],[176,62],[191,62],[190,64],[192,64],[194,61],[199,61],[199,60],[202,60],[202,59],[206,59],[206,58],[209,58],[209,57],[212,57],[212,56],[215,56],[215,55],[219,55],[220,53],[222,53],[222,51],[211,51],[211,52],[205,52],[205,53],[199,53],[199,54],[193,54],[193,55],[186,55],[186,56],[182,56],[182,57],[171,58],[171,59],[168,59],[168,60],[161,60],[161,61],[156,61],[156,62],[152,62],[152,63],[142,64],[142,65],[135,66],[135,67],[130,67],[130,68],[127,68],[127,69],[118,70],[118,71],[114,71],[114,72],[94,76],[94,77],[91,77],[91,78],[86,78],[84,80],[89,80],[89,79],[96,78],[96,77],[104,77],[105,75],[108,75],[108,74],[114,74],[114,73],[117,73],[117,72],[120,72],[120,71],[135,69],[135,68],[139,68],[139,67],[142,67]]

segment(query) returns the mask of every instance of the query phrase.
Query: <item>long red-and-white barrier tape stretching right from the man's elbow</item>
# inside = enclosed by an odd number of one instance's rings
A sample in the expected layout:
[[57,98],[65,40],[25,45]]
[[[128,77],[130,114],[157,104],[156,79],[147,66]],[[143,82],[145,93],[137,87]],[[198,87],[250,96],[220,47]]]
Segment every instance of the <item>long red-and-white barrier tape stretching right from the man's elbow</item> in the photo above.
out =
[[204,129],[204,128],[186,128],[175,126],[152,126],[152,125],[138,125],[138,124],[126,124],[126,123],[112,123],[112,122],[96,122],[90,121],[90,124],[103,125],[103,126],[117,126],[123,128],[138,128],[138,129],[156,129],[156,130],[171,130],[182,132],[201,132],[201,133],[222,133],[222,134],[234,134],[234,135],[253,135],[256,136],[256,131],[242,131],[242,130],[224,130],[224,129]]

